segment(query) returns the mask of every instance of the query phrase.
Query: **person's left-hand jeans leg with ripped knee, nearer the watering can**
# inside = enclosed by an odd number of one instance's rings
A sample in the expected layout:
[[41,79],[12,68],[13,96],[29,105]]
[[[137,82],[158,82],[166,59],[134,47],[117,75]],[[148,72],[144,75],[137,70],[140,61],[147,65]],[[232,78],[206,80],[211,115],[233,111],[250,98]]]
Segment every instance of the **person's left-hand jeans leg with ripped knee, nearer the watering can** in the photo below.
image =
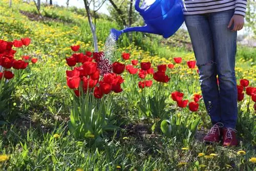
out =
[[207,15],[185,15],[200,74],[200,86],[212,124],[221,122],[214,45]]

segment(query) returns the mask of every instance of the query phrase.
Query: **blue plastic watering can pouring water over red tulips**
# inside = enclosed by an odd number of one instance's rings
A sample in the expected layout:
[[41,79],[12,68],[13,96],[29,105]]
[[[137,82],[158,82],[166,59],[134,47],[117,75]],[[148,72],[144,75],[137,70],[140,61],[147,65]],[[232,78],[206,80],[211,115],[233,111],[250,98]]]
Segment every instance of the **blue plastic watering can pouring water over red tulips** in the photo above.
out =
[[139,31],[154,33],[164,38],[172,36],[184,22],[182,0],[140,0],[135,1],[135,9],[143,17],[145,26],[130,27],[123,30],[111,29],[116,40],[122,33]]

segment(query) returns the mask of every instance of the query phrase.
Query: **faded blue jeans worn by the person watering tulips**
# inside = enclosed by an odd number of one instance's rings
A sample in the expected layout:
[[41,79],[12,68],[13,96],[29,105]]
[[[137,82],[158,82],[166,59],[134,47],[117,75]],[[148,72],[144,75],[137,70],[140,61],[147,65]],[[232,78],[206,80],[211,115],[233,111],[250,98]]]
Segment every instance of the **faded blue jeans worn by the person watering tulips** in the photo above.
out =
[[237,32],[227,28],[233,13],[232,9],[185,15],[185,24],[196,56],[203,100],[211,122],[222,122],[224,127],[234,129],[238,115],[234,71]]

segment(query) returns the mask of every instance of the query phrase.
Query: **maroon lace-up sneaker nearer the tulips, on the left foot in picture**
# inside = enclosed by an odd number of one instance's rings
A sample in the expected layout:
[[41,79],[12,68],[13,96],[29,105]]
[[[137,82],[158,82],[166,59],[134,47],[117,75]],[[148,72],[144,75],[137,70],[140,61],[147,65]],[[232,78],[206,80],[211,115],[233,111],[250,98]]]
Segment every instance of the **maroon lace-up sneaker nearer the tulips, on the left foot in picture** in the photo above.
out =
[[211,127],[209,133],[204,137],[204,142],[206,143],[220,142],[222,127],[223,127],[223,123],[221,122],[214,124]]

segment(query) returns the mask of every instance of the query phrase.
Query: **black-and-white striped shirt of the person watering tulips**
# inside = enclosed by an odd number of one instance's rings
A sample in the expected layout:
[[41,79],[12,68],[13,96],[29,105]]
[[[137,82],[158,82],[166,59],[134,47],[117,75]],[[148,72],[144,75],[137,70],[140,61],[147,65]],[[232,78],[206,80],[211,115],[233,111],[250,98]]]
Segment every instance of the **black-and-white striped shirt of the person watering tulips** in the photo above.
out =
[[234,14],[245,16],[247,0],[183,0],[184,15],[204,14],[234,9]]

